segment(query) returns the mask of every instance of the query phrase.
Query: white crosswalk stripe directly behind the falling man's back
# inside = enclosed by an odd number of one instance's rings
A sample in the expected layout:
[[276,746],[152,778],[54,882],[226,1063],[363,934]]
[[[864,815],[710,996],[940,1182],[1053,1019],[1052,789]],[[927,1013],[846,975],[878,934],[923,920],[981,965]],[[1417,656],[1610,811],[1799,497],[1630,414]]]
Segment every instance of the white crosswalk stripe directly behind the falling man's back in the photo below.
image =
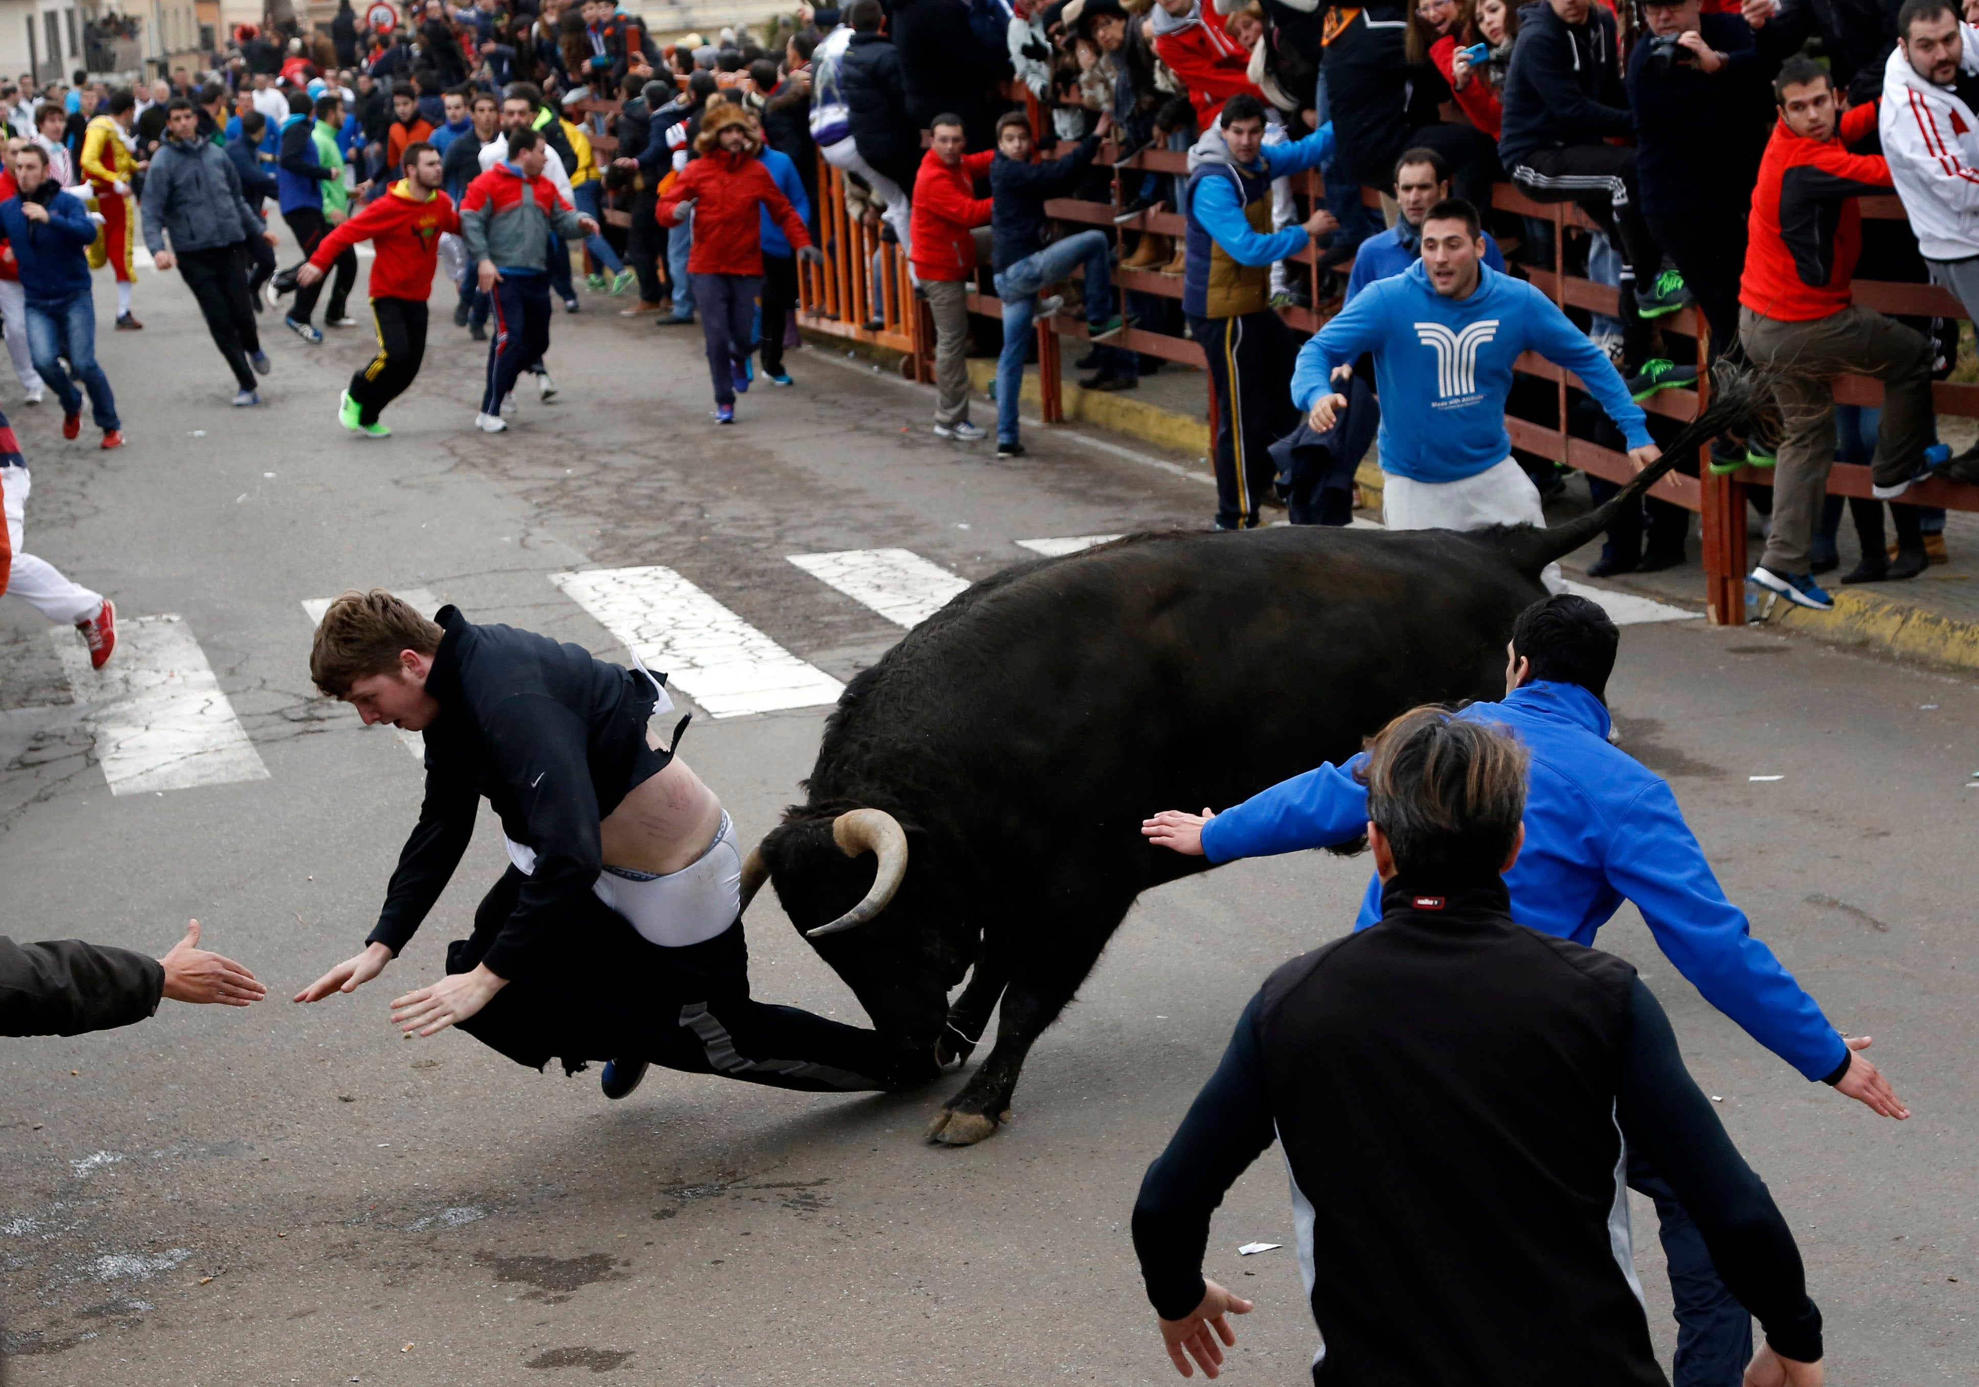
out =
[[815,708],[845,693],[671,568],[594,568],[550,582],[708,716]]

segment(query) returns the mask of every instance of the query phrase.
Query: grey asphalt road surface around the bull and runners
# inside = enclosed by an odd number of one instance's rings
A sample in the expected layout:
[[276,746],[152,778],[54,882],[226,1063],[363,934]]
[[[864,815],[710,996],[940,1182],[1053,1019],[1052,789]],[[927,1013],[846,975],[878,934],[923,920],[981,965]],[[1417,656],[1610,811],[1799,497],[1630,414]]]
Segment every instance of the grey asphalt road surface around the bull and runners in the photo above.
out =
[[[1172,1379],[1128,1247],[1134,1189],[1263,975],[1348,926],[1366,859],[1247,863],[1144,898],[1033,1053],[1013,1124],[970,1150],[918,1140],[954,1078],[877,1098],[655,1072],[612,1104],[590,1074],[457,1033],[398,1039],[388,999],[441,971],[503,865],[493,823],[384,979],[287,1001],[362,942],[420,795],[390,730],[315,696],[305,600],[425,588],[623,659],[550,574],[661,564],[847,679],[898,627],[792,554],[898,546],[980,578],[1027,556],[1015,540],[1209,518],[1178,459],[1031,429],[1033,457],[993,463],[928,433],[926,394],[819,352],[716,429],[699,336],[598,307],[558,315],[562,394],[524,388],[503,437],[469,427],[481,354],[443,317],[386,443],[334,423],[358,330],[307,348],[273,328],[265,408],[230,410],[176,275],[142,277],[142,334],[101,336],[125,451],[61,443],[51,406],[0,384],[36,465],[30,550],[113,594],[127,627],[182,617],[265,768],[113,795],[46,623],[0,603],[4,928],[164,952],[198,916],[271,989],[249,1011],[166,1003],[125,1031],[0,1043],[12,1381]],[[1916,1110],[1884,1122],[1801,1080],[1633,910],[1603,934],[1787,1211],[1831,1381],[1971,1383],[1973,683],[1676,621],[1627,629],[1611,693],[1755,930],[1837,1025],[1876,1037]],[[821,720],[689,732],[744,841],[796,797]],[[760,995],[859,1015],[768,894],[750,944]],[[1654,1219],[1637,1219],[1668,1361]],[[1298,1270],[1290,1248],[1239,1258],[1251,1241],[1290,1243],[1276,1157],[1219,1215],[1209,1272],[1259,1302],[1229,1381],[1292,1387],[1316,1343]]]

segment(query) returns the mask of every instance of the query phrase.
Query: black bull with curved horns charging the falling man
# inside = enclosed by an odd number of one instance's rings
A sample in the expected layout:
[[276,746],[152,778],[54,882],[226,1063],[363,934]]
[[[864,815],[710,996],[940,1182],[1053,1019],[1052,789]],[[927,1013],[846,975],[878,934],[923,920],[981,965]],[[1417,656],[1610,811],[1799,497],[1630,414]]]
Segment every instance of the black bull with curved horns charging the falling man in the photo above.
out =
[[[902,1047],[966,1059],[1001,999],[995,1047],[928,1132],[982,1140],[1134,898],[1205,869],[1148,845],[1142,819],[1338,762],[1411,706],[1502,694],[1544,566],[1694,457],[1734,394],[1607,507],[1548,530],[1136,534],[976,584],[845,689],[809,797],[744,890],[766,869],[800,930],[837,922],[811,944]],[[885,845],[833,835],[853,809],[904,833],[877,912],[867,849]]]

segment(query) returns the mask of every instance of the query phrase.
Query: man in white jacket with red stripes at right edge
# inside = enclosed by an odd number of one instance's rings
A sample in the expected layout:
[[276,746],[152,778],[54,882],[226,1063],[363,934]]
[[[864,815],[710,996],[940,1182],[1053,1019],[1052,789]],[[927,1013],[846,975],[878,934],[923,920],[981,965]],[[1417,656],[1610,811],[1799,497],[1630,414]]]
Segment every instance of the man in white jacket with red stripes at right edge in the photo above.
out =
[[[1882,154],[1932,283],[1979,315],[1979,30],[1945,0],[1906,0],[1884,67]],[[1979,445],[1943,475],[1979,483]],[[1898,560],[1902,562],[1902,558]],[[1892,576],[1896,576],[1892,572]]]

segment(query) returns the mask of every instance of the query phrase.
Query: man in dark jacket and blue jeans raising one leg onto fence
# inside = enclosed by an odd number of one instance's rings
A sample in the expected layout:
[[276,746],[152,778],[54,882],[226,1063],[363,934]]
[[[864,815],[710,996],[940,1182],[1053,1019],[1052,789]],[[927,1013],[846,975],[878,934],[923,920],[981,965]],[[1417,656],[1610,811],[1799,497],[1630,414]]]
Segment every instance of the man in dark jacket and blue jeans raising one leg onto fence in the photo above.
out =
[[1009,111],[995,123],[995,160],[990,164],[990,226],[995,233],[995,291],[1003,301],[1003,354],[995,366],[995,455],[1023,457],[1017,441],[1017,396],[1023,392],[1023,356],[1031,321],[1051,317],[1063,299],[1039,301],[1037,293],[1055,285],[1073,267],[1086,271],[1086,328],[1094,342],[1126,330],[1114,313],[1110,255],[1112,241],[1098,228],[1061,235],[1045,243],[1051,218],[1047,198],[1067,198],[1084,178],[1100,140],[1112,129],[1112,115],[1100,115],[1092,135],[1065,158],[1031,162],[1031,121]]

